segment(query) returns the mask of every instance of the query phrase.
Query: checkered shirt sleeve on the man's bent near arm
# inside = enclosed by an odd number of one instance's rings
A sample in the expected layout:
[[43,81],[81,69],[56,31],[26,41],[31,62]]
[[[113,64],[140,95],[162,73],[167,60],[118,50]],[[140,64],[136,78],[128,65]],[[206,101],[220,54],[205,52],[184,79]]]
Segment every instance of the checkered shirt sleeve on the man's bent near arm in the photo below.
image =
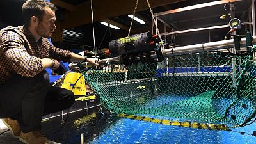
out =
[[33,77],[43,70],[40,58],[30,56],[24,47],[22,36],[14,31],[6,31],[0,38],[0,49],[13,70],[21,76]]

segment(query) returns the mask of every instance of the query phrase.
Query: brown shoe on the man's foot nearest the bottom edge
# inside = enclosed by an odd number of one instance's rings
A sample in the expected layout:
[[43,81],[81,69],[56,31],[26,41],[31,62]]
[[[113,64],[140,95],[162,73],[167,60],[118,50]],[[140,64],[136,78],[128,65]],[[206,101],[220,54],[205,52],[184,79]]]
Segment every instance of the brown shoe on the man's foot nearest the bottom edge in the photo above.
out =
[[49,144],[50,141],[41,131],[33,131],[28,133],[20,132],[20,141],[26,144]]

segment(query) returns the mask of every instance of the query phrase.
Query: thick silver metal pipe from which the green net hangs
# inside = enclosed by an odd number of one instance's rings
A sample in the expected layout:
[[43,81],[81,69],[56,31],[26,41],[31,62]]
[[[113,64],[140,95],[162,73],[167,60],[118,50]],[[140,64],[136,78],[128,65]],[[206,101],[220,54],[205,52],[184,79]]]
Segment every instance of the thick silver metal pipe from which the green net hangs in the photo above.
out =
[[[252,44],[256,44],[256,36],[253,36]],[[241,47],[244,47],[246,45],[246,38],[241,38],[240,42]],[[234,40],[221,40],[217,42],[208,42],[204,44],[195,44],[195,45],[187,45],[183,47],[175,47],[170,49],[165,49],[163,51],[163,56],[165,58],[170,58],[171,56],[177,56],[182,54],[189,54],[189,53],[197,53],[197,52],[203,52],[203,51],[213,51],[218,49],[228,49],[234,47]],[[151,58],[157,58],[156,52],[152,52],[150,54]],[[135,58],[136,60],[140,60],[139,57]],[[105,63],[120,63],[121,59],[120,56],[114,57],[114,58],[106,58],[99,60],[98,63],[100,65],[104,65]],[[87,65],[88,63],[82,63],[83,65]],[[69,65],[70,68],[75,69],[78,68],[77,63],[71,63]]]

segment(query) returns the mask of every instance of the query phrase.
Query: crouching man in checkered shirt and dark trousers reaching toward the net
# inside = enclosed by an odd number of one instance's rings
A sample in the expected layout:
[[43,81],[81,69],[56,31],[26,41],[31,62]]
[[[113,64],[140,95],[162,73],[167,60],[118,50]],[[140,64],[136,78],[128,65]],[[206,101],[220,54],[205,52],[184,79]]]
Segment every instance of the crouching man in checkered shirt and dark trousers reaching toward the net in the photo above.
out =
[[24,26],[0,31],[0,118],[24,143],[49,143],[40,132],[42,116],[74,104],[74,93],[49,86],[45,68],[58,68],[58,61],[98,65],[47,40],[56,29],[55,11],[52,3],[28,0],[22,6]]

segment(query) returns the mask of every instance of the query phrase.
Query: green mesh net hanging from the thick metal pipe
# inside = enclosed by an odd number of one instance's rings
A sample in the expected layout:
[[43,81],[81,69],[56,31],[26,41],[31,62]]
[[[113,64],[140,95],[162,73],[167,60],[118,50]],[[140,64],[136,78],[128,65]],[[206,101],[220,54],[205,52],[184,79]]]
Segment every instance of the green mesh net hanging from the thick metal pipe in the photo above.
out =
[[202,52],[109,65],[88,71],[86,80],[113,113],[240,125],[255,117],[255,70],[250,55]]

